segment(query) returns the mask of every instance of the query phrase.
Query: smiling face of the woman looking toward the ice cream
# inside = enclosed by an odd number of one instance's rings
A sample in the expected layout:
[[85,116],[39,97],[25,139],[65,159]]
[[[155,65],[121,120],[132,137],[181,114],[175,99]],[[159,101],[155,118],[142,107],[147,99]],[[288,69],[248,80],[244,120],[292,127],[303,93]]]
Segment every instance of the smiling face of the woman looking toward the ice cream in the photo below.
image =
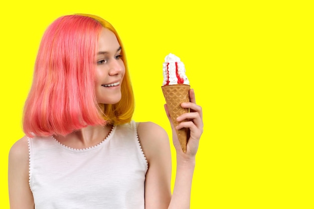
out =
[[121,99],[121,83],[125,73],[120,59],[121,47],[114,33],[103,28],[98,40],[95,73],[96,99],[101,104],[115,104]]

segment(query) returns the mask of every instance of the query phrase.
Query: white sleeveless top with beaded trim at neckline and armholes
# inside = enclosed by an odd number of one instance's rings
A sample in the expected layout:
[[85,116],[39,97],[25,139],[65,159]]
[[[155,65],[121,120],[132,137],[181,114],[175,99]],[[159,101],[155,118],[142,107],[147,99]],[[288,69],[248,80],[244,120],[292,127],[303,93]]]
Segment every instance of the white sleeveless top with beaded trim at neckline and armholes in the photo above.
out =
[[86,149],[53,137],[29,138],[29,152],[36,209],[144,209],[147,161],[134,121],[113,126]]

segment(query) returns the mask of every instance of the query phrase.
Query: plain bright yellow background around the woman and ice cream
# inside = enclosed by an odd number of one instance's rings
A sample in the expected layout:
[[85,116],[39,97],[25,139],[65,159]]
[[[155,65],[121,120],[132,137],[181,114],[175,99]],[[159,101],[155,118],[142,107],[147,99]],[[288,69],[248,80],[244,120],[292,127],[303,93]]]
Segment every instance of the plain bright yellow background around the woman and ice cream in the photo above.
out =
[[1,207],[9,208],[8,152],[23,136],[22,109],[43,32],[60,16],[90,13],[111,22],[123,41],[135,120],[170,134],[162,63],[169,53],[185,63],[205,124],[191,208],[313,208],[309,2],[1,3]]

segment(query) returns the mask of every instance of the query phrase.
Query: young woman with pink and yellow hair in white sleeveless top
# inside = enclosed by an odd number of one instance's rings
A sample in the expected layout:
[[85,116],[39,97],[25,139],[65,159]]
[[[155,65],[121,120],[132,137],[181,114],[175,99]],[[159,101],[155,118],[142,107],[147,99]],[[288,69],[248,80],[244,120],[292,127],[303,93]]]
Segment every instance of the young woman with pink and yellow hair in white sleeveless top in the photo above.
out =
[[[171,193],[166,131],[131,120],[134,101],[122,43],[92,15],[57,19],[45,32],[24,110],[26,136],[9,154],[11,208],[190,208],[202,108],[182,103],[173,130],[177,176]],[[166,113],[169,116],[167,105]],[[171,121],[171,120],[170,120]],[[187,152],[175,129],[190,128]]]

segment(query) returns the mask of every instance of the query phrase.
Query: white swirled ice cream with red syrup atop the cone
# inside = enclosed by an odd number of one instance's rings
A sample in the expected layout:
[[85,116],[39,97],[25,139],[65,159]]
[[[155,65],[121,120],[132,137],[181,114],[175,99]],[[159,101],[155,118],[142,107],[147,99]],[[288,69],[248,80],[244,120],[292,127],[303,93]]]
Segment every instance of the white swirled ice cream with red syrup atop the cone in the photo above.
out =
[[165,57],[165,62],[163,63],[163,76],[163,86],[176,84],[190,85],[183,62],[181,62],[180,58],[174,54],[170,53]]

